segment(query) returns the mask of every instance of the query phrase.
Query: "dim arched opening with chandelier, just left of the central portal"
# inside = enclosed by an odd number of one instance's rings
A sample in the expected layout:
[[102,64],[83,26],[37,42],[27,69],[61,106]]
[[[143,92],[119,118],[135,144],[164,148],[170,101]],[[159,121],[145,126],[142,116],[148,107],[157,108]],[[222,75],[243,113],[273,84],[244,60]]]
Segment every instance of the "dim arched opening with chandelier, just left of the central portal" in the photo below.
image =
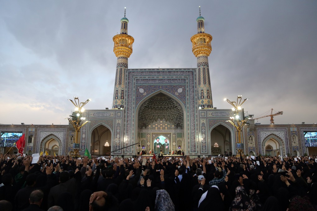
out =
[[94,128],[91,133],[90,154],[105,155],[111,151],[111,131],[104,125]]

